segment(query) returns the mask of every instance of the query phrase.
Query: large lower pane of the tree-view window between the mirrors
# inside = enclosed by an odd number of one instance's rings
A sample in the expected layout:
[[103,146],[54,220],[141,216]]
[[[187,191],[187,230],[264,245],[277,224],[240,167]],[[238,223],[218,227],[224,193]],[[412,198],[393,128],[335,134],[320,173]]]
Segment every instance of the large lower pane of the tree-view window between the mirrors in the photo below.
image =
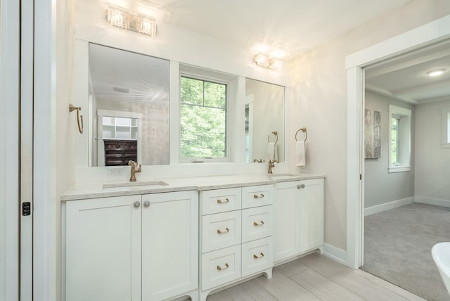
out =
[[181,105],[181,157],[224,158],[225,110]]

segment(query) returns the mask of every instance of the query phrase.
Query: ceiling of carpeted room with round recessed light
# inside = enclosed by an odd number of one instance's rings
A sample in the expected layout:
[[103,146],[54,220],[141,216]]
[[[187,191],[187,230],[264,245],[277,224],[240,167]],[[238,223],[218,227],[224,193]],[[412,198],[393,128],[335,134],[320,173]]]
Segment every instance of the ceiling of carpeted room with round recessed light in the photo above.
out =
[[[427,72],[446,69],[439,77]],[[404,53],[366,68],[366,89],[420,104],[450,97],[450,40]]]

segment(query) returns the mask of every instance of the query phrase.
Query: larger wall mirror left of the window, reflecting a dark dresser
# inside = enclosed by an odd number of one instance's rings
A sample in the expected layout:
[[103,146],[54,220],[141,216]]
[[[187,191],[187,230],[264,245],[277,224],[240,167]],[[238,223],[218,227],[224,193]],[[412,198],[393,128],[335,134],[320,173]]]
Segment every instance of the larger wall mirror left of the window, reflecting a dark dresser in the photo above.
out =
[[168,60],[90,43],[89,110],[90,166],[169,164]]

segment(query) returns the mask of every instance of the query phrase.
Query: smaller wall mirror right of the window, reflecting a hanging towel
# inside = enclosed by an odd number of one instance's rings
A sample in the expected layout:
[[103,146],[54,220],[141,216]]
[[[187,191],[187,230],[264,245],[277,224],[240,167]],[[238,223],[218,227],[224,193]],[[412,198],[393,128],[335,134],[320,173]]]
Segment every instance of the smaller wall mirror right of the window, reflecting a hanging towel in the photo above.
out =
[[285,158],[285,87],[245,79],[245,162]]

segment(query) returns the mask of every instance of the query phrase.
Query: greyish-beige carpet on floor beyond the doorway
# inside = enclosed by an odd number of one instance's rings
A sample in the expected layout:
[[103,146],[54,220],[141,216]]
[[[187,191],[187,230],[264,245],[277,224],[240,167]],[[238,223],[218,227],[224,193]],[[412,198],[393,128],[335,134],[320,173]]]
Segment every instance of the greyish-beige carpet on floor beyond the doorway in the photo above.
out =
[[450,241],[450,208],[412,203],[365,217],[364,271],[430,301],[447,301],[431,257]]

